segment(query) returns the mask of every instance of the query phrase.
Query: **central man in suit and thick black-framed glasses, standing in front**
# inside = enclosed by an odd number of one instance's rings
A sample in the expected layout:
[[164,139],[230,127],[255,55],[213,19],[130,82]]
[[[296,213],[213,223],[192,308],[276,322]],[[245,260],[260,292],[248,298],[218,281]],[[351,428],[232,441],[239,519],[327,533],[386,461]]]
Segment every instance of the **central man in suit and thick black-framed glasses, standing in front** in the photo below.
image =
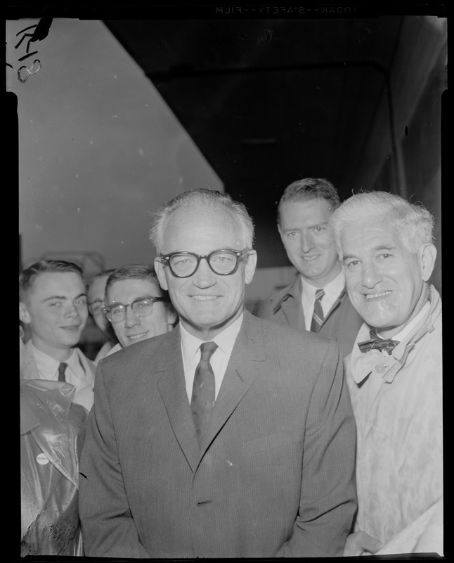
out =
[[355,428],[336,343],[244,309],[247,210],[184,192],[155,217],[180,323],[101,360],[80,464],[86,555],[342,555]]

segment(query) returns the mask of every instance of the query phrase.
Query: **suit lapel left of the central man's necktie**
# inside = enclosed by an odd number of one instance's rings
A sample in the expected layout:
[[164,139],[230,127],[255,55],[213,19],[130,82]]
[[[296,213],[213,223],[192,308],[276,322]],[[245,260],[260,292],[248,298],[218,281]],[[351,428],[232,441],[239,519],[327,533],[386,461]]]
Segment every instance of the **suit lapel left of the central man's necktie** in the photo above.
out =
[[157,388],[183,454],[193,472],[197,467],[199,444],[190,412],[181,358],[180,329],[176,327],[157,354],[155,372],[160,374]]

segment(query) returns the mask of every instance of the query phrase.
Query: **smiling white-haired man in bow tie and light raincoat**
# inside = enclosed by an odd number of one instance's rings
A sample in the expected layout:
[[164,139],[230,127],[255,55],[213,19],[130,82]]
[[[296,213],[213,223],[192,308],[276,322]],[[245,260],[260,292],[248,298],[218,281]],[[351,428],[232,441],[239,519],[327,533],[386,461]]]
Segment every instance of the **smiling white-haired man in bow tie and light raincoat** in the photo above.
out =
[[[441,298],[428,283],[433,228],[422,205],[383,191],[351,196],[330,219],[351,303],[365,321],[345,360],[358,514],[344,555],[380,554],[391,540],[394,552],[416,551],[422,526],[415,522],[442,499]],[[431,551],[442,550],[439,534],[432,539]]]

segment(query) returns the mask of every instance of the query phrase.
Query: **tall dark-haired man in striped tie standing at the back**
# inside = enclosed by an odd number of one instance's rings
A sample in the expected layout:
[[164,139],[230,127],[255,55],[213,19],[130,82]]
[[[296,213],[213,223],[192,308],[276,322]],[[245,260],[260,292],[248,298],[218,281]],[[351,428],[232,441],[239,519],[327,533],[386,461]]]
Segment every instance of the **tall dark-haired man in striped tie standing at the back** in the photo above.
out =
[[328,220],[339,205],[337,189],[325,178],[303,178],[287,186],[278,205],[278,231],[298,274],[261,301],[254,315],[335,340],[345,358],[363,319],[350,303],[328,232]]

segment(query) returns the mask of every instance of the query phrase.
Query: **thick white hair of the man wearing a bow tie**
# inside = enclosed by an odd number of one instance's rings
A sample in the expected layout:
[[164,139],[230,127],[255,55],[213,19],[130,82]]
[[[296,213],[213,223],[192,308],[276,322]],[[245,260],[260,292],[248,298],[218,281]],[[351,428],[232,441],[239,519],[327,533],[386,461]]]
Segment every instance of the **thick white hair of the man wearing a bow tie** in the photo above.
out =
[[342,228],[358,220],[386,217],[401,234],[408,251],[415,253],[433,240],[434,217],[421,203],[410,203],[387,191],[361,191],[346,199],[330,217],[330,230],[342,259]]

